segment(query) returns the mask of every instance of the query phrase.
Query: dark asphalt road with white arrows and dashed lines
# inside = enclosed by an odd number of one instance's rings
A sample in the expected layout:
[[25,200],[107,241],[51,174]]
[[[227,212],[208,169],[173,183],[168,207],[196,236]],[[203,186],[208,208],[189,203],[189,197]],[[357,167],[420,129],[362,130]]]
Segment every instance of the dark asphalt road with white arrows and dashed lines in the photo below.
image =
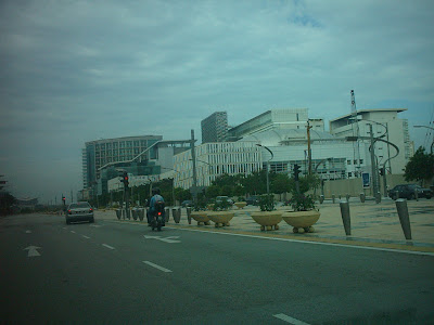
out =
[[14,324],[434,324],[434,256],[13,216],[0,297]]

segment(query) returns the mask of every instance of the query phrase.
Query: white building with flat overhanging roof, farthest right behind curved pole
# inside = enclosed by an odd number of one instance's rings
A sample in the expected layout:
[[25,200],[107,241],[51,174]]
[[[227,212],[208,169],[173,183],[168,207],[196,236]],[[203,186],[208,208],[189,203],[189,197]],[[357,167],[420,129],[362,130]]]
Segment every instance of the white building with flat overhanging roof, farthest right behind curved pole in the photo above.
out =
[[[405,110],[407,109],[361,109],[357,112],[356,118],[354,118],[352,114],[347,114],[330,120],[330,133],[339,138],[353,135],[370,136],[371,125],[374,138],[392,142],[399,150],[399,154],[393,158],[397,154],[395,147],[385,142],[376,141],[374,153],[379,168],[385,165],[387,173],[401,174],[404,173],[408,160],[413,155],[413,145],[408,132],[408,121],[407,119],[398,118],[398,113]],[[361,151],[360,145],[363,143],[369,144],[369,140],[354,142],[354,159],[357,159],[359,152]]]

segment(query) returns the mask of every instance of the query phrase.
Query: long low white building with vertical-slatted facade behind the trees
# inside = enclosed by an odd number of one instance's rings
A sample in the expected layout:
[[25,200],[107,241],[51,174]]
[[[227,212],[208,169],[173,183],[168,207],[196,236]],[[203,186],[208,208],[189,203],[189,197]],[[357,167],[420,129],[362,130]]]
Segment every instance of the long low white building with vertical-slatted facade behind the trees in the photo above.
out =
[[[307,173],[307,142],[304,129],[270,129],[238,142],[199,145],[195,147],[197,185],[208,186],[224,173],[250,174],[266,168],[267,164],[270,171],[289,174],[297,164],[302,172]],[[368,145],[360,144],[360,157],[355,161],[352,142],[327,132],[310,131],[312,171],[323,180],[355,178],[356,171],[371,174]],[[193,185],[191,151],[176,155],[174,165],[176,186],[190,188]]]

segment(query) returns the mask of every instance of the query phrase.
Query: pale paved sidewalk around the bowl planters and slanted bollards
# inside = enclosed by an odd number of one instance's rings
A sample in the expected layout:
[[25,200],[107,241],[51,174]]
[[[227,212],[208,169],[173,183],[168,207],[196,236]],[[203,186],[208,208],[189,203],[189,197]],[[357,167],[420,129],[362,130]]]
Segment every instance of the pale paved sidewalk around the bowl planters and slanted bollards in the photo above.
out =
[[[283,220],[279,223],[280,229],[277,231],[261,232],[251,217],[252,211],[258,211],[258,207],[247,206],[244,209],[233,208],[235,217],[231,220],[230,226],[216,229],[214,223],[210,225],[200,225],[192,220],[191,224],[187,220],[187,210],[181,209],[181,221],[179,224],[174,222],[170,210],[170,219],[167,226],[180,226],[188,229],[208,230],[215,232],[237,232],[248,233],[265,236],[279,236],[292,239],[307,240],[327,240],[327,242],[345,242],[354,245],[355,242],[369,244],[387,244],[410,246],[412,250],[420,248],[429,248],[434,251],[434,199],[420,199],[407,202],[412,240],[406,240],[403,229],[399,223],[398,213],[396,211],[395,202],[392,199],[383,199],[381,204],[374,200],[367,200],[365,204],[356,198],[349,200],[352,235],[346,236],[339,200],[335,204],[326,200],[322,205],[318,204],[321,217],[314,225],[315,233],[294,234],[292,226]],[[278,207],[278,210],[290,210],[290,207]],[[95,218],[117,220],[115,211],[97,211]],[[131,220],[132,218],[131,218]],[[140,221],[138,221],[140,222]],[[372,245],[369,245],[372,246]],[[401,248],[401,247],[400,247]],[[426,251],[426,249],[423,249]]]

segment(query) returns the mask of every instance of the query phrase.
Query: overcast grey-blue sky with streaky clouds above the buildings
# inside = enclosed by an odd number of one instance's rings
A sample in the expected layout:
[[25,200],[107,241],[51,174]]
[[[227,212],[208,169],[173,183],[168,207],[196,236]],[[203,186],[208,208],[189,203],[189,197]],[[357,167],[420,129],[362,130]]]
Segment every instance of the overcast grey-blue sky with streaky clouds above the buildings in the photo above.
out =
[[[0,174],[18,197],[81,188],[86,141],[189,139],[215,110],[310,118],[407,108],[431,144],[434,1],[1,1]],[[431,125],[433,126],[433,125]],[[417,131],[417,132],[416,132]],[[75,194],[74,194],[75,195]]]

